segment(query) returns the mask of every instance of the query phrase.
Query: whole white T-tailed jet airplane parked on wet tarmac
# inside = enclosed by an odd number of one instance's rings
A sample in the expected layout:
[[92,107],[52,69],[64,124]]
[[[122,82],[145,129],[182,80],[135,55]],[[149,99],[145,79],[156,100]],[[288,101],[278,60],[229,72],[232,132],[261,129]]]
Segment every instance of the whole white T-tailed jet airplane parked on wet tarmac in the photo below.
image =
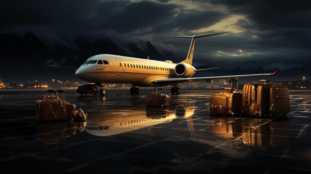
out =
[[[223,33],[205,34],[200,36],[173,36],[179,38],[192,38],[187,58],[179,63],[171,60],[158,61],[145,58],[132,58],[117,55],[96,55],[88,58],[76,71],[76,76],[101,86],[100,95],[105,95],[104,83],[131,84],[131,94],[139,94],[137,86],[163,87],[173,86],[172,94],[180,94],[180,83],[203,81],[212,83],[216,79],[237,79],[241,77],[254,77],[273,75],[273,73],[228,75],[214,77],[193,77],[197,71],[215,68],[196,69],[192,66],[195,40],[198,38],[220,35]],[[216,67],[220,68],[220,67]]]

